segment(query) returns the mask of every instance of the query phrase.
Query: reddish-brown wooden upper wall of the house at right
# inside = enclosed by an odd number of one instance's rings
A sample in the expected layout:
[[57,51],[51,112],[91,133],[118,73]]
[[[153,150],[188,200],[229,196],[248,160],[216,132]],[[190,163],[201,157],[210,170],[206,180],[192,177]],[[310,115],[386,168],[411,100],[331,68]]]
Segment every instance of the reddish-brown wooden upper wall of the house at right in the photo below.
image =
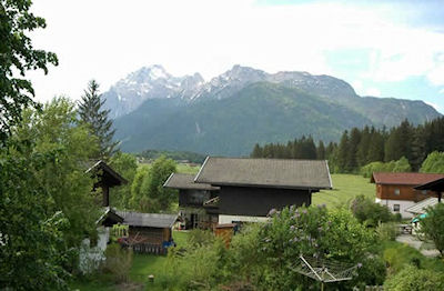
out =
[[[395,194],[396,189],[400,190],[400,194]],[[414,185],[377,184],[376,197],[380,199],[408,200],[417,202],[436,195],[432,191],[426,191],[424,194],[421,190],[415,190]]]

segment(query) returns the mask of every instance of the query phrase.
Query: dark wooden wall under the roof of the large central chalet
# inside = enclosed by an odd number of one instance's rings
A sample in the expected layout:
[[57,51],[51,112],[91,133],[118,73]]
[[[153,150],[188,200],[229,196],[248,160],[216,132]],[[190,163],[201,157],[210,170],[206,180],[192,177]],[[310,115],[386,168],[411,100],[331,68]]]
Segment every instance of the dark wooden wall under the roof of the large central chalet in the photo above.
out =
[[271,209],[286,205],[310,205],[307,190],[221,187],[219,213],[265,217]]

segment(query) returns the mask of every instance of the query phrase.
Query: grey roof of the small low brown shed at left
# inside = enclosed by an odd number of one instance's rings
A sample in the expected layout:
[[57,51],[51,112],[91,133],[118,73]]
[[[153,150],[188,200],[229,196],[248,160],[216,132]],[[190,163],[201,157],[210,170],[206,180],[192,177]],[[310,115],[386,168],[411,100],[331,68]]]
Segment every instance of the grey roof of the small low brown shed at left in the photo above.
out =
[[178,220],[178,214],[140,213],[117,211],[123,218],[123,224],[145,228],[171,228]]

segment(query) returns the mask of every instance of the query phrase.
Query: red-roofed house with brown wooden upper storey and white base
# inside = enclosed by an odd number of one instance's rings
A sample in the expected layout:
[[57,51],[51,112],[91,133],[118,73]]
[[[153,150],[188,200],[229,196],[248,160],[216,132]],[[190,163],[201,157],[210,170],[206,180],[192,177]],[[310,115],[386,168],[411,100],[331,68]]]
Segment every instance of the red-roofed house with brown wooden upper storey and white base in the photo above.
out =
[[436,173],[373,173],[371,182],[376,184],[375,202],[387,205],[392,212],[401,213],[403,218],[412,218],[406,211],[416,202],[435,197],[435,193],[415,187],[428,183],[444,174]]

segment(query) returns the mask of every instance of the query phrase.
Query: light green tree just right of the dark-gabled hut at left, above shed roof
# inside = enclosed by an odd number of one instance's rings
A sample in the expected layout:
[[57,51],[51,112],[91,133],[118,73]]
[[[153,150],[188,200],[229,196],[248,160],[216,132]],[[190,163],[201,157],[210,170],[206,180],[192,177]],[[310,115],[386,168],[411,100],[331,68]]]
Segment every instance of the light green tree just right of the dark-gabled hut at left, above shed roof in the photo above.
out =
[[130,208],[131,185],[138,170],[138,162],[133,154],[118,152],[111,157],[110,165],[127,179],[128,184],[110,189],[110,204],[119,209]]

